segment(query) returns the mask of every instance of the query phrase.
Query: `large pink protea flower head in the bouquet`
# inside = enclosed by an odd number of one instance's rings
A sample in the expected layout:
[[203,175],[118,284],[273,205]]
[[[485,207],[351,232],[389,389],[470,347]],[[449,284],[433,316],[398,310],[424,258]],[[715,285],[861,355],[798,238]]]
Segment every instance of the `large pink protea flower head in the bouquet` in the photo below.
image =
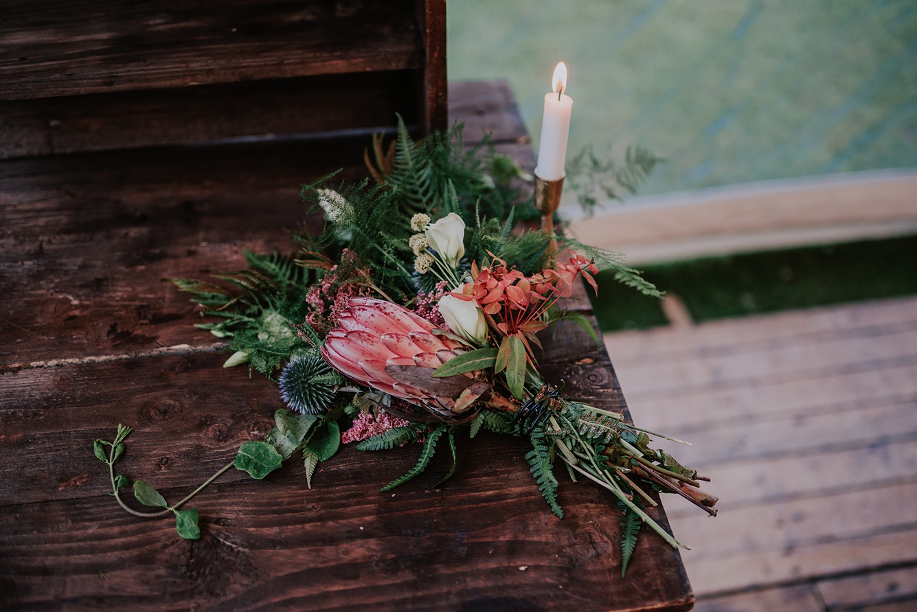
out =
[[476,401],[491,385],[483,372],[434,378],[436,368],[465,352],[460,342],[437,336],[434,329],[403,306],[354,297],[337,317],[337,328],[328,332],[321,353],[337,372],[420,406],[436,420],[470,420],[478,412],[472,409]]

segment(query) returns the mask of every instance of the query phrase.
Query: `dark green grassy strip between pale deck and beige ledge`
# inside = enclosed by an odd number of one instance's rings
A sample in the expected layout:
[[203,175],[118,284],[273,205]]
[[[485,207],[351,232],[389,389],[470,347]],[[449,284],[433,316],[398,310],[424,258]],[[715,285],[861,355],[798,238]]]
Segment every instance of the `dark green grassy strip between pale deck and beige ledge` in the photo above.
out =
[[[917,294],[917,236],[745,253],[646,266],[644,278],[678,295],[694,321]],[[655,297],[597,277],[603,330],[668,323]]]

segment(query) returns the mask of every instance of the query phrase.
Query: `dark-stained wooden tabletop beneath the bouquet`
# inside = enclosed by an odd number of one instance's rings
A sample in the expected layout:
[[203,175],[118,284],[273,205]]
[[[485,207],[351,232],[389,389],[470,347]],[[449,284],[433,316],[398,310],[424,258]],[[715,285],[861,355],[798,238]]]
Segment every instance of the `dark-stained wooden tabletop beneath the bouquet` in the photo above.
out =
[[[531,167],[505,83],[451,83],[473,140]],[[460,112],[459,112],[460,109]],[[348,447],[315,474],[288,462],[265,481],[230,471],[194,500],[202,537],[141,520],[106,495],[92,440],[123,422],[121,471],[168,499],[259,440],[276,388],[220,367],[213,337],[162,279],[241,267],[240,250],[288,250],[298,185],[357,176],[365,139],[88,152],[0,162],[0,606],[137,610],[687,610],[677,551],[649,529],[620,576],[611,495],[562,481],[553,517],[525,444],[460,440],[458,473],[436,460],[379,486],[418,449]],[[313,220],[314,221],[314,220]],[[580,298],[571,306],[588,308]],[[545,368],[570,395],[626,413],[605,351],[575,326]],[[653,514],[663,524],[660,509]]]

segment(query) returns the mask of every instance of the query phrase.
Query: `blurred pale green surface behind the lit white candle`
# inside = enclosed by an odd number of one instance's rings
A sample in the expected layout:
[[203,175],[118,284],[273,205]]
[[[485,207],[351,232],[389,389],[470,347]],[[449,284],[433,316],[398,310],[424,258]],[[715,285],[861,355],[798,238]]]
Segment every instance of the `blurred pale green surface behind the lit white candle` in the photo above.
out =
[[535,142],[557,61],[570,152],[668,161],[641,193],[917,166],[913,0],[449,0],[452,80],[505,78]]

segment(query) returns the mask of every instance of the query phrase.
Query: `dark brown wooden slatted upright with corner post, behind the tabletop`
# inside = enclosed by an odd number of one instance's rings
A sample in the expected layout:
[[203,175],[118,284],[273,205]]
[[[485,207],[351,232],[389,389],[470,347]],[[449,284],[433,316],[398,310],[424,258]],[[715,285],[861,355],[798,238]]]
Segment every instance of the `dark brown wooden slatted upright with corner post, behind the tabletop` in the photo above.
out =
[[12,0],[0,159],[447,127],[445,0]]

